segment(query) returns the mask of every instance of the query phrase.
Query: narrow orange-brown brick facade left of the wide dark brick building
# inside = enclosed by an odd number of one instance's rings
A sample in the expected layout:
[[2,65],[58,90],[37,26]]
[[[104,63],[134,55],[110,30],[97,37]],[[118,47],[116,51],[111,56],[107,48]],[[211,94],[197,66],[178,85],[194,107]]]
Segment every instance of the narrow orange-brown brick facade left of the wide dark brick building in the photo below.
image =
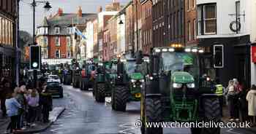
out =
[[152,44],[152,2],[141,1],[142,15],[142,50],[143,54],[149,54]]

